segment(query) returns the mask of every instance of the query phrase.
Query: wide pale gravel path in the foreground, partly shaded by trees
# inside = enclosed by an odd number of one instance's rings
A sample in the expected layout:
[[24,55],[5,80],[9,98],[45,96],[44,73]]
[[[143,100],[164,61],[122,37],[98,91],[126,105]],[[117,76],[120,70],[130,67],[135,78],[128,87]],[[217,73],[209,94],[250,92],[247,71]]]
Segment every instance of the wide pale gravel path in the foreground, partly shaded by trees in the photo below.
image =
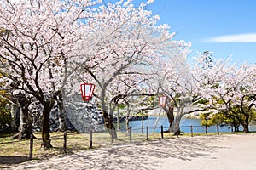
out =
[[11,169],[256,169],[256,134],[181,137],[80,151]]

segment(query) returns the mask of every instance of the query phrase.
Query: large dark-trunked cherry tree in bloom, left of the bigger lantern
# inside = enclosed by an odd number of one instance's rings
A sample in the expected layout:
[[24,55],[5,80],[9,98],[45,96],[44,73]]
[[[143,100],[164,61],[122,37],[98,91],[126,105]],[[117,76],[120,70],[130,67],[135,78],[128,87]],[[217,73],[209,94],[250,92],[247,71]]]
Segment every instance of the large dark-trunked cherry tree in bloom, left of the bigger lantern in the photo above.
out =
[[15,82],[15,94],[32,95],[44,106],[44,147],[51,147],[49,112],[67,79],[62,76],[65,60],[79,50],[79,40],[88,31],[81,20],[90,16],[88,7],[94,4],[87,0],[0,3],[0,58],[6,66],[2,81]]

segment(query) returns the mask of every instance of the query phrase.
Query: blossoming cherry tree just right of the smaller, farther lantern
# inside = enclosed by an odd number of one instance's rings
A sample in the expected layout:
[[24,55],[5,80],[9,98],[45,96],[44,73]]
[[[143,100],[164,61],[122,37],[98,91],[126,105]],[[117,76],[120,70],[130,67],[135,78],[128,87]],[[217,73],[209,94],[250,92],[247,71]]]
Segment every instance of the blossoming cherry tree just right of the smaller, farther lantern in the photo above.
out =
[[[169,130],[172,132],[178,131],[179,122],[184,115],[199,111],[191,105],[195,105],[201,99],[200,84],[197,82],[200,79],[195,79],[201,74],[187,62],[189,46],[190,44],[183,42],[172,53],[160,59],[152,71],[154,77],[147,81],[148,88],[153,90],[154,94],[164,94],[167,97],[163,110],[166,112]],[[188,107],[190,110],[186,109]]]

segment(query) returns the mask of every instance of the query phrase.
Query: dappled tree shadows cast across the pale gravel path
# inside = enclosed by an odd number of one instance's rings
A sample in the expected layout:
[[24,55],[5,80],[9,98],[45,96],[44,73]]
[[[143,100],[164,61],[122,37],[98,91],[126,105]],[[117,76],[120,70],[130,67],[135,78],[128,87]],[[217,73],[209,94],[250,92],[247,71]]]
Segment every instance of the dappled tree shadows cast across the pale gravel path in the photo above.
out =
[[[42,160],[26,165],[26,169],[154,169],[167,162],[166,168],[172,167],[172,160],[193,161],[199,157],[212,157],[212,153],[227,147],[221,142],[229,139],[224,136],[182,137],[160,139],[145,143],[117,145],[98,150],[85,150],[73,155],[56,156],[49,161]],[[165,162],[166,162],[165,161]]]

